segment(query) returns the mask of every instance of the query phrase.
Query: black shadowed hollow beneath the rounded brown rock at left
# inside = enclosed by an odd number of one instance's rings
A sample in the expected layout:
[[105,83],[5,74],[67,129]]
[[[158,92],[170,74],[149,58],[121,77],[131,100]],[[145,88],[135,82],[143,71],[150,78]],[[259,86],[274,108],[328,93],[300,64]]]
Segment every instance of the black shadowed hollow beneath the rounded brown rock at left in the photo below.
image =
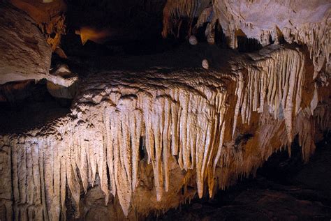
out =
[[0,102],[0,134],[43,128],[47,123],[71,112],[72,100],[52,97],[47,91],[45,80],[37,83],[31,81],[22,90],[9,91],[8,96],[4,86],[6,84],[0,88],[0,94],[6,98],[6,101]]

